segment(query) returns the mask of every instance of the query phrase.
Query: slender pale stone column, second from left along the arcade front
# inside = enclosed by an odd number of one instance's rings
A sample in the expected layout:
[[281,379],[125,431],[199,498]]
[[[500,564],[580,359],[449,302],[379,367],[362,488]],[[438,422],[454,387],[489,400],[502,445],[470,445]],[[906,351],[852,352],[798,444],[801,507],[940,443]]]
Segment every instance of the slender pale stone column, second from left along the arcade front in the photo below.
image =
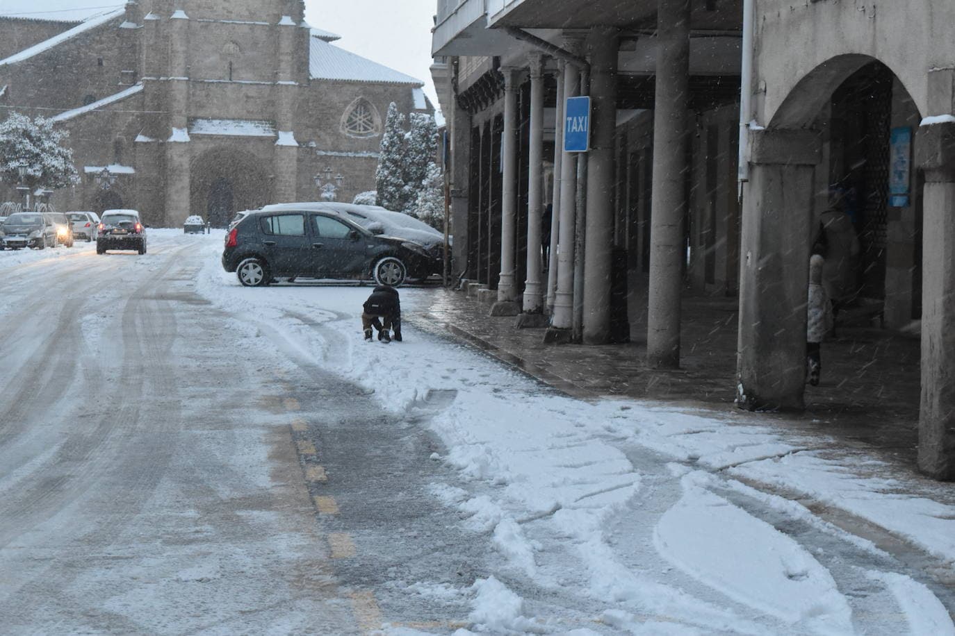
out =
[[541,215],[543,213],[543,55],[530,53],[531,118],[527,161],[527,280],[519,327],[543,327]]

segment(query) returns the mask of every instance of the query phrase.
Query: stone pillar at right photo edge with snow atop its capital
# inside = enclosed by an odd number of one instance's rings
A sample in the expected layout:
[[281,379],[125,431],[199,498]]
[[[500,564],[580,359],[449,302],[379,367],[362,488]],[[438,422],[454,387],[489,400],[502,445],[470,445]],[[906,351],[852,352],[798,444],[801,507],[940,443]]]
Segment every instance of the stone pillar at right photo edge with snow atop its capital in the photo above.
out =
[[[949,86],[952,86],[949,83]],[[955,123],[922,126],[922,403],[919,469],[955,480]]]

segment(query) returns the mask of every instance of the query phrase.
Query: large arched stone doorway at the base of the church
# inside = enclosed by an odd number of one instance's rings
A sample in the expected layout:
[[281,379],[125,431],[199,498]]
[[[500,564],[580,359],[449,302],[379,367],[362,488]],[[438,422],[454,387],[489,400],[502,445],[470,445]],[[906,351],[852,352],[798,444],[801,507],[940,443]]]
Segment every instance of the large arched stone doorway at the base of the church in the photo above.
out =
[[266,205],[271,200],[271,177],[254,154],[217,148],[192,162],[190,209],[213,227],[224,228],[237,212]]

